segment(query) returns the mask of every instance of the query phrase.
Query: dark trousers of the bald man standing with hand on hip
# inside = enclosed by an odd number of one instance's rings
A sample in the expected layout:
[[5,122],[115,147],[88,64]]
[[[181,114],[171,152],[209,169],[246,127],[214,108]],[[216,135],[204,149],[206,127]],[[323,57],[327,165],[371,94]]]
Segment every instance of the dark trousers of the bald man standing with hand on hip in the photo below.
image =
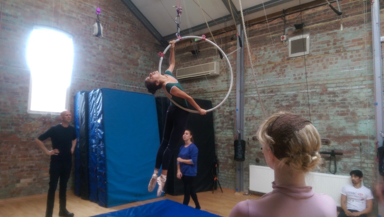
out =
[[49,168],[49,189],[47,197],[46,216],[52,216],[53,205],[55,204],[55,192],[57,188],[57,182],[60,180],[59,189],[59,202],[60,210],[66,210],[66,192],[67,182],[70,178],[72,168],[72,159],[67,161],[51,160]]

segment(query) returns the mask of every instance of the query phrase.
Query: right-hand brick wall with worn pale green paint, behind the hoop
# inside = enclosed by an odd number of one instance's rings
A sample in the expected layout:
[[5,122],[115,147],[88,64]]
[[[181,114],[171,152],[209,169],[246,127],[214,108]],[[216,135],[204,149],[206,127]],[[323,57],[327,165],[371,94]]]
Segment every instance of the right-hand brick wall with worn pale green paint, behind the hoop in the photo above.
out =
[[[313,5],[321,3],[318,1]],[[329,145],[323,145],[321,151],[335,150],[343,153],[342,156],[336,156],[336,174],[349,175],[351,170],[361,169],[366,186],[376,181],[371,12],[370,9],[364,11],[363,2],[358,1],[343,1],[341,8],[344,12],[342,20],[327,5],[305,10],[301,15],[298,12],[286,16],[288,38],[310,34],[310,54],[305,58],[288,56],[288,46],[280,41],[284,30],[282,19],[248,28],[253,71],[245,49],[245,191],[249,186],[248,166],[266,166],[262,145],[252,140],[258,126],[265,119],[259,96],[267,117],[278,111],[291,111],[311,120],[321,138],[331,141]],[[381,9],[383,19],[382,12]],[[303,32],[291,28],[293,24],[301,22],[305,23]],[[208,35],[207,38],[212,40]],[[223,34],[215,36],[216,41],[223,44],[227,39],[227,53],[236,49],[235,41],[230,40],[233,35],[235,32],[228,33],[227,38]],[[180,52],[176,54],[178,61],[182,61],[185,66],[220,61],[214,48],[203,44],[199,42],[195,46],[201,51],[200,59],[190,53],[194,48],[188,43],[183,44],[186,47],[179,46],[176,51]],[[230,61],[236,73],[236,56],[230,56]],[[185,90],[194,97],[214,99],[213,104],[217,105],[227,93],[228,83],[223,61],[220,61],[220,67],[223,74],[218,77],[182,81]],[[215,145],[220,161],[220,184],[235,189],[235,87],[230,98],[232,102],[228,101],[214,111]],[[324,167],[317,171],[330,173],[329,156],[323,157]],[[330,170],[334,172],[334,169],[332,163]]]

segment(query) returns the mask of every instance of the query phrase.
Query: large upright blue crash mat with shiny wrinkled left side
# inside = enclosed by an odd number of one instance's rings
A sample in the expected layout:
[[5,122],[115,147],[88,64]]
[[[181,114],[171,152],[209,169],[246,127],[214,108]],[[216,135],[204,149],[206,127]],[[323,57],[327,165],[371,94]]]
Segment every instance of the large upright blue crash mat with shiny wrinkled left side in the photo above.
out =
[[90,201],[113,207],[157,198],[148,192],[160,144],[154,95],[92,90],[88,123]]

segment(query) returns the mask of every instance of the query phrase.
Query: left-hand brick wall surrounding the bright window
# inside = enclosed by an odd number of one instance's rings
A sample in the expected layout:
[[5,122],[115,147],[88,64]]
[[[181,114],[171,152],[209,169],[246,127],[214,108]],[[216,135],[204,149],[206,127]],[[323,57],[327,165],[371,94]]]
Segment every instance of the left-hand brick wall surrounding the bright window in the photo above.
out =
[[[143,81],[147,72],[156,69],[162,46],[120,0],[98,2],[2,1],[0,199],[48,191],[50,159],[33,140],[60,120],[55,115],[27,114],[30,71],[25,53],[34,25],[53,26],[73,35],[72,111],[73,96],[79,90],[107,87],[147,92]],[[92,36],[97,7],[104,38]],[[46,144],[50,146],[50,141]]]

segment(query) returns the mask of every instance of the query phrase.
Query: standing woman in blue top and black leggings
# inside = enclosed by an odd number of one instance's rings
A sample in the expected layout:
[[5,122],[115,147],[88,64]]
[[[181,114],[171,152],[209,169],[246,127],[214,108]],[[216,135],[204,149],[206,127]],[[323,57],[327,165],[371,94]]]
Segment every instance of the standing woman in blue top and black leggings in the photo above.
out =
[[197,194],[193,186],[194,179],[197,174],[197,155],[199,150],[193,143],[192,133],[190,130],[185,130],[183,135],[185,145],[180,147],[179,155],[177,156],[177,178],[183,179],[184,182],[184,205],[189,204],[189,199],[195,202],[196,209],[200,209]]

